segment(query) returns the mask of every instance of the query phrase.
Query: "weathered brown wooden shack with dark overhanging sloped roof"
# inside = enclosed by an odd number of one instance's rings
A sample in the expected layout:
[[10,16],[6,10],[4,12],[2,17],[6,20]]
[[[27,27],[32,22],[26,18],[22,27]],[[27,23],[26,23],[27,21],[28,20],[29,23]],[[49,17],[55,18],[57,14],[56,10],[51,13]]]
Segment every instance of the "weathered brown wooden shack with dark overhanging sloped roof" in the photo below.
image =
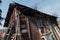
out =
[[53,25],[58,26],[57,17],[18,3],[11,3],[4,23],[4,27],[9,28],[5,40],[48,39],[50,33],[53,33]]

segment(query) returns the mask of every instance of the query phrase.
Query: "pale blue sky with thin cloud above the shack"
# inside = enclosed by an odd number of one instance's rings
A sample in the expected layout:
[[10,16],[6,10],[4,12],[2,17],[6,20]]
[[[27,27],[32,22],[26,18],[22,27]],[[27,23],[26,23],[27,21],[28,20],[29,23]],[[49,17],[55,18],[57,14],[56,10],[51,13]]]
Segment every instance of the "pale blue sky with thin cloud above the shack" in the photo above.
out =
[[[58,20],[60,20],[60,0],[2,0],[2,4],[0,6],[0,9],[2,9],[2,17],[6,17],[9,4],[13,2],[37,9],[38,11],[46,14],[57,16]],[[2,21],[3,25],[4,21],[5,20]],[[3,25],[0,26],[0,29],[3,28]]]

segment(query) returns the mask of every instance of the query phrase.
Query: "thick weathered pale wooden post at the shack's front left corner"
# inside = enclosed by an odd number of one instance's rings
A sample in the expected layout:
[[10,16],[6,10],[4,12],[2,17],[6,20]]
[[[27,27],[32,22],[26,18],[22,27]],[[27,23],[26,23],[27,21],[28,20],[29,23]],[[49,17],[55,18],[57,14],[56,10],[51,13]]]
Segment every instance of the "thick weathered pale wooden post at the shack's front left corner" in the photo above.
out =
[[[15,21],[16,21],[16,35],[15,35],[15,37],[19,36],[20,40],[21,40],[19,14],[20,14],[20,11],[18,11],[15,8]],[[15,40],[16,40],[16,38],[15,38]]]

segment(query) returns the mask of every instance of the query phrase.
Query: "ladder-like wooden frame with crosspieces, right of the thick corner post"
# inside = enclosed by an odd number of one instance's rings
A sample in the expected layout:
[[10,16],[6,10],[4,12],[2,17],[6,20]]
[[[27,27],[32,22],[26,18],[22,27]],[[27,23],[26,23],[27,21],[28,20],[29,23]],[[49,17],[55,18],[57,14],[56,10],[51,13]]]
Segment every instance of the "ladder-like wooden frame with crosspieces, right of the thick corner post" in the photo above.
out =
[[30,38],[29,20],[25,15],[21,15],[20,25],[22,39],[29,40]]

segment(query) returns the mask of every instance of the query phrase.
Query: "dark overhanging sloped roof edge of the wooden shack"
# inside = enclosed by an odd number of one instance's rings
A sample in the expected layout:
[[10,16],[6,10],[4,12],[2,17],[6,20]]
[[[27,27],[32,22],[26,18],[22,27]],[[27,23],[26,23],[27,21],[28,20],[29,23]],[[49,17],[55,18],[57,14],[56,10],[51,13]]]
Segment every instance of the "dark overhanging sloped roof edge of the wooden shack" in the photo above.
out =
[[[27,14],[28,14],[28,12],[34,11],[34,12],[36,12],[36,13],[38,13],[38,14],[42,14],[42,15],[46,15],[46,16],[50,16],[50,17],[57,18],[56,16],[48,15],[48,14],[46,14],[46,13],[40,12],[40,11],[38,11],[38,10],[32,9],[32,8],[30,8],[30,7],[27,7],[27,6],[18,4],[18,3],[11,3],[11,4],[9,5],[9,9],[8,9],[8,12],[7,12],[7,15],[6,15],[4,27],[7,27],[7,26],[8,26],[8,23],[9,23],[9,20],[10,20],[10,16],[11,16],[11,14],[12,14],[12,12],[13,12],[13,9],[16,8],[16,6],[18,6],[18,7],[17,7],[18,10],[20,10],[21,12],[23,12],[23,11],[24,11],[24,12],[27,12]],[[31,14],[31,13],[29,13],[29,14],[33,16],[33,14]]]

